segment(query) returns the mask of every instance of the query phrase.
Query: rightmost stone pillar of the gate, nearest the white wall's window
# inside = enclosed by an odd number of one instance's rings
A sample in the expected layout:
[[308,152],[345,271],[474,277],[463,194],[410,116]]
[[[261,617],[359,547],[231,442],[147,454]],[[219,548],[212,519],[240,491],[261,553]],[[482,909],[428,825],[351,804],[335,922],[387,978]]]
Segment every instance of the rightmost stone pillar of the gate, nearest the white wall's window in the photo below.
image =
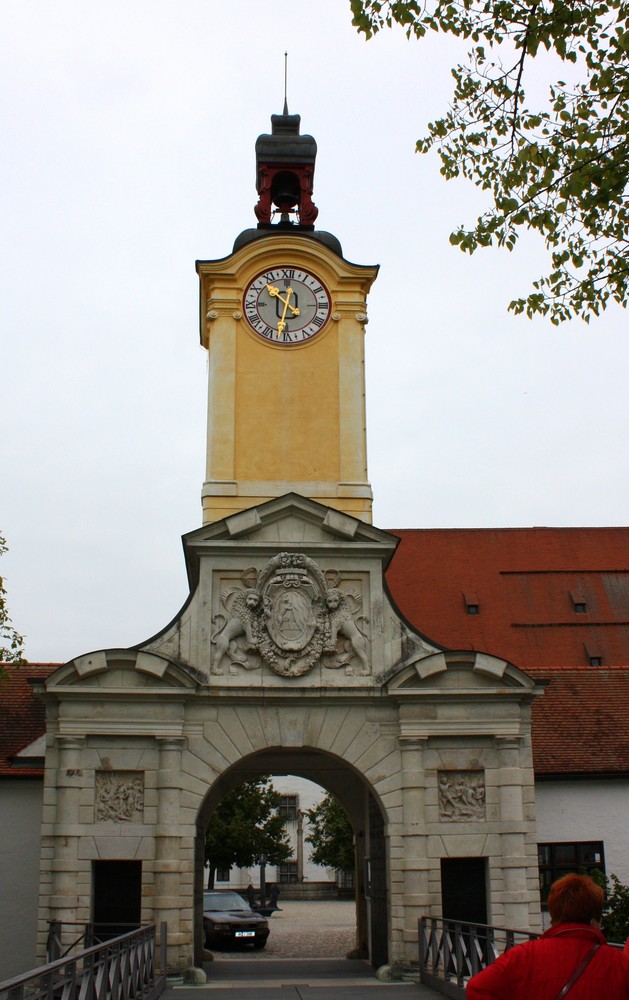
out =
[[503,922],[506,927],[529,926],[528,858],[522,796],[522,767],[519,738],[496,737],[499,768],[496,774],[500,802],[502,847]]

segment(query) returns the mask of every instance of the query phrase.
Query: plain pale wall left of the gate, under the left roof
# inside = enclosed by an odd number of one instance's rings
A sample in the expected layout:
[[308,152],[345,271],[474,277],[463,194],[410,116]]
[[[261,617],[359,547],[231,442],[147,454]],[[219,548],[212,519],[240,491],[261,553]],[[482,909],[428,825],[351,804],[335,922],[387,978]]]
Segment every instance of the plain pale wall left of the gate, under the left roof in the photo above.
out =
[[42,782],[0,782],[0,980],[35,965]]

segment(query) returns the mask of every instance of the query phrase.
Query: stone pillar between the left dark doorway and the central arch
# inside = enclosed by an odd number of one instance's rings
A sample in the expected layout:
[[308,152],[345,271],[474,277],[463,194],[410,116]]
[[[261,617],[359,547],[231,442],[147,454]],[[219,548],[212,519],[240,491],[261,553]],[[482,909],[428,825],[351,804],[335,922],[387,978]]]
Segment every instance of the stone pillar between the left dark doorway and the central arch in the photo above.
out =
[[157,827],[155,830],[154,920],[168,924],[168,971],[192,964],[192,938],[182,930],[181,909],[192,907],[181,891],[180,792],[183,737],[158,737]]

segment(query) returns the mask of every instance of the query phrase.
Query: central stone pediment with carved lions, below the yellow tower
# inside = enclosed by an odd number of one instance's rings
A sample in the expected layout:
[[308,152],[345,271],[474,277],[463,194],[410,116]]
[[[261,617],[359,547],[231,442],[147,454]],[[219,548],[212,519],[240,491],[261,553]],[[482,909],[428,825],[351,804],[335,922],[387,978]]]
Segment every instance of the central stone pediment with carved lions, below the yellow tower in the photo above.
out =
[[388,532],[289,493],[183,539],[191,595],[142,648],[210,687],[376,688],[394,663],[434,646],[392,608]]

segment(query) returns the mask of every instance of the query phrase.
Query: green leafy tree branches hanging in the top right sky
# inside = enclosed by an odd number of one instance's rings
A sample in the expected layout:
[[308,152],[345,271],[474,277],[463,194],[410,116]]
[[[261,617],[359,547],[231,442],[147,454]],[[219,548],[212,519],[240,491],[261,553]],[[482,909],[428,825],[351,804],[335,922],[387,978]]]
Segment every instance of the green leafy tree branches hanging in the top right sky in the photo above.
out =
[[[493,206],[450,241],[473,253],[512,250],[541,234],[549,272],[514,313],[589,321],[629,291],[629,2],[627,0],[350,0],[370,37],[394,22],[409,37],[436,31],[471,43],[452,70],[450,110],[417,143],[436,148],[441,173],[489,192]],[[544,57],[550,53],[554,58]],[[525,82],[536,60],[535,90]],[[563,64],[563,65],[562,65]],[[570,82],[570,81],[573,82]],[[546,87],[544,87],[546,91]]]

